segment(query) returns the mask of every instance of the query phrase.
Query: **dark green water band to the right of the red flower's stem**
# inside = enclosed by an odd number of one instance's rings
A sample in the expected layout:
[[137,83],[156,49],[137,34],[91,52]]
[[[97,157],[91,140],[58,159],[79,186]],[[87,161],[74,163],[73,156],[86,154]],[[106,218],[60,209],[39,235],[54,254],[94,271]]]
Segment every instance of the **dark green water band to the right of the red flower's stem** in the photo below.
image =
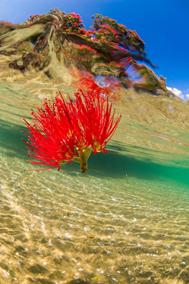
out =
[[[86,175],[101,178],[129,178],[135,177],[145,180],[171,180],[189,186],[189,168],[160,164],[150,158],[135,158],[129,153],[123,154],[116,150],[109,150],[107,154],[99,153],[89,159],[89,170]],[[66,166],[67,172],[74,175],[78,171],[75,164]]]

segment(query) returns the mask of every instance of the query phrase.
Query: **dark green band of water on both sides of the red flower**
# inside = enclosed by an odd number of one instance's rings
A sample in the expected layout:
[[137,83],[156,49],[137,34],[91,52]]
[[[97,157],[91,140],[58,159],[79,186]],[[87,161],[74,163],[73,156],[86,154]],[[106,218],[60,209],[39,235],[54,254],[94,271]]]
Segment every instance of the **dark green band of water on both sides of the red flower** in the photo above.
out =
[[[0,147],[7,150],[6,156],[28,161],[27,147],[23,143],[26,131],[27,128],[24,126],[0,119]],[[132,147],[128,150],[127,152],[127,146],[124,147],[124,144],[110,144],[108,153],[91,155],[89,170],[84,175],[99,178],[135,177],[145,180],[172,180],[189,186],[189,168],[157,163],[150,158],[151,155],[135,158],[132,156]],[[141,152],[143,150],[141,148]],[[62,170],[74,177],[80,171],[76,163],[68,164]]]

